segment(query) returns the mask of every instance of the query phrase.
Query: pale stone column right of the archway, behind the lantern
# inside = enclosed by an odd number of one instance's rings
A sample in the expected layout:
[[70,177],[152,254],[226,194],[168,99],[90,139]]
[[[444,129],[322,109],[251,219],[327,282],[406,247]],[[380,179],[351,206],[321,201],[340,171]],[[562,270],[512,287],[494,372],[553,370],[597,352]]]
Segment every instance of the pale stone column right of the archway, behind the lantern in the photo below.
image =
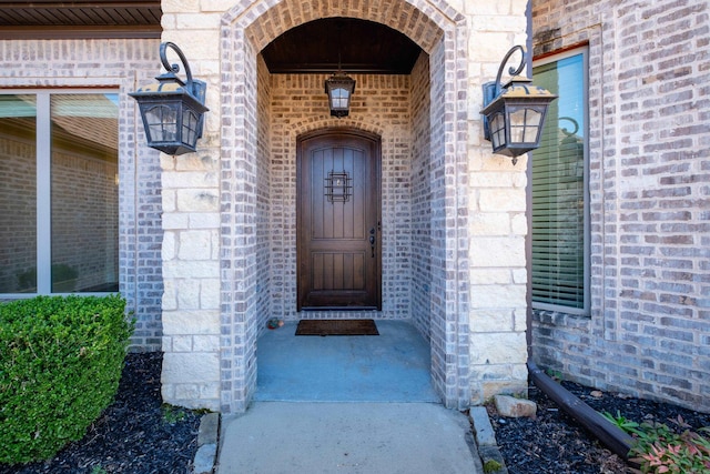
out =
[[[527,395],[526,155],[517,164],[484,140],[481,84],[514,44],[527,42],[527,2],[465,2],[468,38],[469,384],[474,404],[499,393]],[[514,64],[509,64],[514,65]],[[505,82],[507,77],[504,75]]]

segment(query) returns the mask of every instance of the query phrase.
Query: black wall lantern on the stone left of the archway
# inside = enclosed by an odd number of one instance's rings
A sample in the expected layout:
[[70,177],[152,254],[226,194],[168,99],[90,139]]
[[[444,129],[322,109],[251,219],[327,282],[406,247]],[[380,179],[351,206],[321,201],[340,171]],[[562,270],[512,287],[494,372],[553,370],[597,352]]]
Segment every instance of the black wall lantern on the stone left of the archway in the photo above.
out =
[[[168,62],[168,48],[180,57],[187,82],[175,75],[180,65]],[[204,112],[210,110],[204,107],[207,85],[192,79],[187,60],[174,43],[161,43],[160,61],[168,72],[155,78],[159,83],[129,94],[141,110],[148,145],[173,155],[194,152],[197,139],[202,137]]]

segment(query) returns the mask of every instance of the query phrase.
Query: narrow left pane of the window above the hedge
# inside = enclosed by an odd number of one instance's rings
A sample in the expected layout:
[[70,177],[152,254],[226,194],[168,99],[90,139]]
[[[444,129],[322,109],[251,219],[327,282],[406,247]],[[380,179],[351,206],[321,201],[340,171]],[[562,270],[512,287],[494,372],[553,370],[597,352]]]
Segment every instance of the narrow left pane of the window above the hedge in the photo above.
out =
[[0,95],[0,293],[37,292],[37,101]]

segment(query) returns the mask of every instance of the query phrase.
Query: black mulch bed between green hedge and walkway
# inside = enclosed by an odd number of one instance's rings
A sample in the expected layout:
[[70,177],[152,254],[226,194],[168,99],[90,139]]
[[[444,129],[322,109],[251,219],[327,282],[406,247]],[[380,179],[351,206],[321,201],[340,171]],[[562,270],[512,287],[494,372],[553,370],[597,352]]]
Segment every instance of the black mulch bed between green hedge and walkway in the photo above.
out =
[[0,473],[190,473],[201,415],[162,406],[161,363],[161,353],[129,354],[114,403],[81,441],[48,462],[0,464]]

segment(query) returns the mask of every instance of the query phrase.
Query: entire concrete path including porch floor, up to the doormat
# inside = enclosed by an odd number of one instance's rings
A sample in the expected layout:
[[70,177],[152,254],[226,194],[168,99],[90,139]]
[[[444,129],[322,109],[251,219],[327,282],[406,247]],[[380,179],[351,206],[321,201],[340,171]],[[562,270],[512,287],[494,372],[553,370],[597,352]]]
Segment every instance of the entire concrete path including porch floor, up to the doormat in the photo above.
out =
[[254,402],[222,418],[217,473],[483,473],[468,417],[438,403],[428,342],[406,321],[377,329],[265,332]]

